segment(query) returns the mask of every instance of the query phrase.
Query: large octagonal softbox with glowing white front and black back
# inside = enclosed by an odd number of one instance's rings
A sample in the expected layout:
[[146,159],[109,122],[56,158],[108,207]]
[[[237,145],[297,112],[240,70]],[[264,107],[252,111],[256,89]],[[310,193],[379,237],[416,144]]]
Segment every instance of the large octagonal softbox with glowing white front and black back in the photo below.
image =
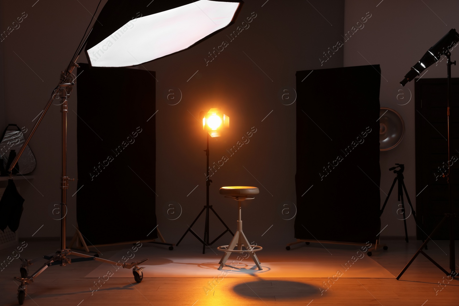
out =
[[231,25],[242,1],[109,0],[86,44],[92,67],[130,67],[186,50]]

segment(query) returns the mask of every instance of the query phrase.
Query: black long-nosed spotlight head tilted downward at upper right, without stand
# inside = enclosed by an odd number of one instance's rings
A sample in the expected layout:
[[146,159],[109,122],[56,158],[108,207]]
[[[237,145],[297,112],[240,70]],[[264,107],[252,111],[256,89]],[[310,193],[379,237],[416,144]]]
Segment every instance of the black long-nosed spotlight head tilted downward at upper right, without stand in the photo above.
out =
[[424,56],[422,56],[422,58],[414,64],[413,67],[411,67],[411,70],[405,75],[405,78],[400,82],[400,84],[405,86],[406,83],[420,75],[425,68],[429,67],[433,63],[436,63],[445,52],[448,52],[448,50],[458,42],[459,34],[456,32],[456,29],[449,30],[449,32],[446,33],[446,35],[443,36],[437,44],[427,50]]

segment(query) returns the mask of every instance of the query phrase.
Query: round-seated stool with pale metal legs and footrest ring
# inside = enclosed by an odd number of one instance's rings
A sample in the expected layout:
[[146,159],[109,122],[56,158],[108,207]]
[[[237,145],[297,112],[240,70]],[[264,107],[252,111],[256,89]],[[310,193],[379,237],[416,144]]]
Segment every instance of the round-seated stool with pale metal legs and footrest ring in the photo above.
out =
[[[220,195],[224,195],[225,198],[234,199],[237,201],[239,206],[239,220],[237,221],[237,230],[236,233],[231,239],[229,245],[222,245],[217,248],[217,250],[225,252],[222,259],[220,260],[218,270],[222,269],[231,255],[232,252],[247,252],[252,260],[255,262],[259,270],[263,270],[260,261],[255,254],[256,251],[262,250],[263,248],[259,245],[250,245],[249,240],[246,235],[242,232],[242,220],[241,220],[241,202],[244,200],[255,199],[252,195],[257,195],[259,190],[257,187],[249,186],[229,186],[220,188]],[[235,250],[235,247],[237,249]],[[242,247],[245,250],[242,250]]]

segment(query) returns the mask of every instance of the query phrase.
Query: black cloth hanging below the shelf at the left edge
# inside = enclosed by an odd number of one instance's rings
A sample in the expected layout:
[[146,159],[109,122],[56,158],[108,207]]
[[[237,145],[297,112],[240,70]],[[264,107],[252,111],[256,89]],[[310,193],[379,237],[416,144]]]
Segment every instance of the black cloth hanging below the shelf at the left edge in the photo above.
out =
[[8,179],[8,186],[6,186],[0,200],[0,211],[2,212],[0,214],[0,229],[3,232],[5,232],[6,227],[9,227],[13,232],[17,231],[24,210],[23,203],[24,199],[17,192],[13,180]]

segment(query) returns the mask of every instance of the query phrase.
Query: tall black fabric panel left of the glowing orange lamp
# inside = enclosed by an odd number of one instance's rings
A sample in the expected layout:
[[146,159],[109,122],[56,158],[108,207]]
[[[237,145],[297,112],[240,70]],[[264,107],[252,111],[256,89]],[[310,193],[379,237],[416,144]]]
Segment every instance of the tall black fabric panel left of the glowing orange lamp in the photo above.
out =
[[155,239],[155,72],[79,65],[79,230],[88,245]]

